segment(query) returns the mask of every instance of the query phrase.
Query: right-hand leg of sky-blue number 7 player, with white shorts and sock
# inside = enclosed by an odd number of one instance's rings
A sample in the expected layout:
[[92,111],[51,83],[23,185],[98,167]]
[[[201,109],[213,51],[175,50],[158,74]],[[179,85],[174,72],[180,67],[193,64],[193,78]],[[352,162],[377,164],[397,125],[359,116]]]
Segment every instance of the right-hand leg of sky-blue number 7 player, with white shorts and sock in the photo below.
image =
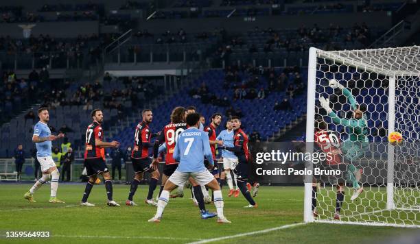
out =
[[209,186],[209,188],[211,188],[211,191],[213,191],[214,206],[218,214],[218,223],[231,223],[231,221],[227,220],[223,214],[224,202],[223,202],[222,191],[220,190],[219,182],[215,180],[214,176],[209,171],[192,173],[191,175],[193,175],[193,178],[199,184],[205,184],[206,186]]

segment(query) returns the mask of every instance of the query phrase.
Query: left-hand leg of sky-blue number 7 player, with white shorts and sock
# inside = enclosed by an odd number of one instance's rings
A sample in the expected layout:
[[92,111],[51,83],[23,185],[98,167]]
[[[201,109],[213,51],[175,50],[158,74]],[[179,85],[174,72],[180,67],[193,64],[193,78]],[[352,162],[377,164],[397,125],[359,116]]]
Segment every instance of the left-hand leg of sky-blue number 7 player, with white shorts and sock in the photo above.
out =
[[170,192],[174,190],[177,186],[183,186],[185,182],[189,178],[189,173],[183,173],[180,171],[175,171],[169,179],[165,182],[165,186],[163,186],[163,191],[161,196],[159,197],[159,201],[157,203],[157,210],[156,215],[152,219],[149,219],[149,222],[160,222],[163,214],[163,210],[170,199]]

